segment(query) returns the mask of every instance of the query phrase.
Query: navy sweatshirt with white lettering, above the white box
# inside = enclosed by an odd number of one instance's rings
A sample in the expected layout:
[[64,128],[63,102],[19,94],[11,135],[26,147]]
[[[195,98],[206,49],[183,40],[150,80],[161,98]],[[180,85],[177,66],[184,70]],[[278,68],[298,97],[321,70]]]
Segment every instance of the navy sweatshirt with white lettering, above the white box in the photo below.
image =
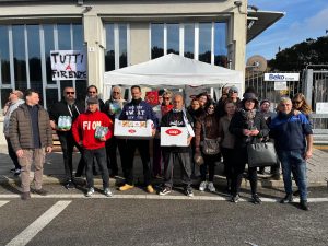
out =
[[119,120],[145,121],[148,119],[153,120],[154,127],[157,127],[159,120],[156,114],[144,101],[141,101],[137,105],[132,104],[131,102],[126,104],[119,116]]

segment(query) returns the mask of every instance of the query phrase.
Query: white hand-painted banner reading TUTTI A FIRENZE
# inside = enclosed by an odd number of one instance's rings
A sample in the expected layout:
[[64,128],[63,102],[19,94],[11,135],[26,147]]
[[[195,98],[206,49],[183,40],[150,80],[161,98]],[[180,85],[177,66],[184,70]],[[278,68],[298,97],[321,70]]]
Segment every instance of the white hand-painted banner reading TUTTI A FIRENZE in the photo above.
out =
[[86,56],[80,50],[51,50],[52,80],[86,80]]

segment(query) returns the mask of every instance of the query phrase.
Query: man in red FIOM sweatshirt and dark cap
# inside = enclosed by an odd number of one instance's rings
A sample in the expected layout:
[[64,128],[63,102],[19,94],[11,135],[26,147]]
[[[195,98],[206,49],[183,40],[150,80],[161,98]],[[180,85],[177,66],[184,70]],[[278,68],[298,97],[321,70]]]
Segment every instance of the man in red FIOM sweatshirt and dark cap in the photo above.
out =
[[[72,133],[74,140],[84,149],[83,157],[86,164],[86,197],[91,197],[94,194],[93,181],[93,159],[96,157],[99,168],[102,171],[104,194],[107,197],[112,197],[113,194],[109,189],[109,174],[107,169],[106,161],[106,140],[113,136],[113,121],[108,116],[98,110],[98,99],[96,97],[90,97],[86,101],[87,110],[80,114],[72,126]],[[108,129],[104,137],[95,136],[97,127],[106,127]],[[97,138],[96,138],[97,137]]]

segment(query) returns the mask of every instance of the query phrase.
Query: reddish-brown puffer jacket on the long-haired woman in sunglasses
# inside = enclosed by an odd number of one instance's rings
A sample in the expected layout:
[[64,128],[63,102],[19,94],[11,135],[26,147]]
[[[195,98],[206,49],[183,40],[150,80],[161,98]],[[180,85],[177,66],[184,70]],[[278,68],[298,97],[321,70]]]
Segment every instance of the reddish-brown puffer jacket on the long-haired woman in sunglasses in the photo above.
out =
[[204,139],[203,127],[206,128],[207,139],[219,138],[219,118],[216,114],[206,114],[195,122],[195,147],[199,148],[200,142]]

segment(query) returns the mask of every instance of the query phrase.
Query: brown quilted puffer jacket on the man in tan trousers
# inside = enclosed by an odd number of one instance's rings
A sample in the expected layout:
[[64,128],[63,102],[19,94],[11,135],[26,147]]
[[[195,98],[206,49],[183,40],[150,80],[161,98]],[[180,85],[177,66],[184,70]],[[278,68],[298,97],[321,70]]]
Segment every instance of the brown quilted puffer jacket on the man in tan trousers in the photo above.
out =
[[[40,145],[52,147],[52,129],[49,115],[40,105],[38,107],[38,129]],[[16,152],[22,149],[34,149],[31,115],[26,104],[22,104],[14,110],[10,118],[9,138]]]

